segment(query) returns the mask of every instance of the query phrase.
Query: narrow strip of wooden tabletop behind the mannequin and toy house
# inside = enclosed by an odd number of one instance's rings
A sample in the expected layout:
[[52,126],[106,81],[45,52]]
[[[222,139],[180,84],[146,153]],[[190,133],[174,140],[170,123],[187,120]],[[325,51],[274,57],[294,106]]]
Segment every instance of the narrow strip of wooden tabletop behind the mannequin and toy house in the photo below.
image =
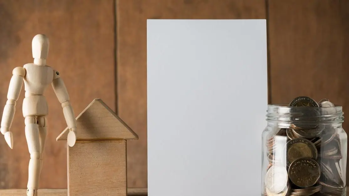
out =
[[[23,196],[27,189],[4,189],[0,190],[1,196]],[[67,189],[39,189],[39,195],[45,196],[67,196]],[[127,196],[147,196],[147,189],[136,189],[129,188],[127,189]]]

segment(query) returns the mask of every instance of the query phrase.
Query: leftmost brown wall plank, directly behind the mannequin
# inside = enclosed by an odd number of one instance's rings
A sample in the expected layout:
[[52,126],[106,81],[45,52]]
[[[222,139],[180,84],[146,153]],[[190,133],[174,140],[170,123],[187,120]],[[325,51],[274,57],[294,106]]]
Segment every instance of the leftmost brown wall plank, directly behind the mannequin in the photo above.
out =
[[[95,97],[114,108],[113,6],[113,0],[0,0],[0,113],[12,69],[33,62],[31,40],[38,33],[50,39],[47,65],[60,72],[75,114]],[[67,188],[66,142],[55,141],[66,122],[52,87],[45,96],[49,127],[39,188]],[[11,128],[13,150],[0,135],[0,188],[27,187],[29,152],[21,111],[23,98],[22,89]]]

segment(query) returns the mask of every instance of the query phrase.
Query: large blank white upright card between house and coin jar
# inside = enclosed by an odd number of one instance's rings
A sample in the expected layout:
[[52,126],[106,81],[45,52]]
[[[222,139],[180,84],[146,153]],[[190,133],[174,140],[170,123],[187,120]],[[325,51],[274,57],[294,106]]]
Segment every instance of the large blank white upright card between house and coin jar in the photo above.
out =
[[148,195],[256,196],[265,19],[147,20]]

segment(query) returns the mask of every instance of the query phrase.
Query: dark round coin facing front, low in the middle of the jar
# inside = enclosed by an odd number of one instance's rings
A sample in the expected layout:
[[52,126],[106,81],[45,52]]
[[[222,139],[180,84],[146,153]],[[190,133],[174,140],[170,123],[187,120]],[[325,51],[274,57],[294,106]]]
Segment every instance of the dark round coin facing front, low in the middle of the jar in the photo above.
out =
[[299,158],[290,164],[289,178],[294,185],[307,188],[318,182],[321,171],[319,164],[312,158]]

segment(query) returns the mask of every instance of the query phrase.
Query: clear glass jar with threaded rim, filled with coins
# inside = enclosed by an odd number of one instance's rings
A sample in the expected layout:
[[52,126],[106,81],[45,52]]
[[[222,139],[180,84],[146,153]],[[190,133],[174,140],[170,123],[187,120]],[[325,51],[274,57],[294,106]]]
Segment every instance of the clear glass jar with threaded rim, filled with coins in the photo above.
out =
[[262,196],[345,196],[347,134],[341,106],[268,105]]

